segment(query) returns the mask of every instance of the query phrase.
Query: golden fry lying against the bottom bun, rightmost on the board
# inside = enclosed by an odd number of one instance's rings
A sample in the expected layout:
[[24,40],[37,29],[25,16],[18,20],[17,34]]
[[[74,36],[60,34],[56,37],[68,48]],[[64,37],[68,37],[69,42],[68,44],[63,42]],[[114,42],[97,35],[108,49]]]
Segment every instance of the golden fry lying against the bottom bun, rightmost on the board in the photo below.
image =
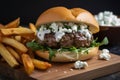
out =
[[33,61],[35,68],[37,68],[37,69],[46,70],[52,66],[48,62],[40,61],[37,59],[32,59],[32,61]]

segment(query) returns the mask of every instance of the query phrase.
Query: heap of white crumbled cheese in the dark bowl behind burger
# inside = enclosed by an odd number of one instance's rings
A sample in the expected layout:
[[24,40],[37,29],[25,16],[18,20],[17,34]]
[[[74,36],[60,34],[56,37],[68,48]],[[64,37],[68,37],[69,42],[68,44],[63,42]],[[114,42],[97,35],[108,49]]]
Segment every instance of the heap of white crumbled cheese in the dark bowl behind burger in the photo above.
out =
[[111,11],[98,13],[98,15],[95,15],[95,19],[100,26],[120,26],[120,18],[117,18]]

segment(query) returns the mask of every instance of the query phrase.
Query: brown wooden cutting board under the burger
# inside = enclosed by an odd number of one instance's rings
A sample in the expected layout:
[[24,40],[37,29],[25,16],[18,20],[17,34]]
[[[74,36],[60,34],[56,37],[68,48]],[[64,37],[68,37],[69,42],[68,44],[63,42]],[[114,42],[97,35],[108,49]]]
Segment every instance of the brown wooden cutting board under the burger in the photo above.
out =
[[99,60],[98,56],[87,60],[85,69],[73,69],[74,63],[52,63],[47,71],[36,70],[31,77],[37,80],[91,80],[120,71],[120,56],[111,54],[109,61]]

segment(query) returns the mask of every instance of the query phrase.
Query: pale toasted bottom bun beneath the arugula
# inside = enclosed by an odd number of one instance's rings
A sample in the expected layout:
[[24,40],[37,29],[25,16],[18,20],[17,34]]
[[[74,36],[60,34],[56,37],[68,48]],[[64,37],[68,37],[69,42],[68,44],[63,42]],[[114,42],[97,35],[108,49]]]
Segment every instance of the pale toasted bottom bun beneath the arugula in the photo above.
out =
[[[55,54],[55,57],[52,57],[52,62],[72,62],[72,61],[77,61],[77,60],[87,60],[90,59],[92,57],[94,57],[95,55],[97,55],[98,53],[98,47],[91,47],[88,49],[88,53],[73,53],[70,51],[66,51],[66,52],[57,52]],[[36,51],[36,54],[41,57],[44,58],[46,60],[49,60],[49,52],[48,51]]]

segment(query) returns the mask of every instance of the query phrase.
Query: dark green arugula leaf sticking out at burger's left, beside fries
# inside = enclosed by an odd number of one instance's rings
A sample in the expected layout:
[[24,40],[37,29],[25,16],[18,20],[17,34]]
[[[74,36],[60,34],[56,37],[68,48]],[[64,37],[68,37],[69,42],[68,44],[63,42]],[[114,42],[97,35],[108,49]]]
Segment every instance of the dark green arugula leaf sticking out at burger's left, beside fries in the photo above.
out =
[[36,50],[39,50],[39,49],[44,49],[43,46],[41,46],[40,44],[38,44],[35,41],[27,42],[26,46],[29,47],[29,48],[31,48],[33,51],[36,51]]

